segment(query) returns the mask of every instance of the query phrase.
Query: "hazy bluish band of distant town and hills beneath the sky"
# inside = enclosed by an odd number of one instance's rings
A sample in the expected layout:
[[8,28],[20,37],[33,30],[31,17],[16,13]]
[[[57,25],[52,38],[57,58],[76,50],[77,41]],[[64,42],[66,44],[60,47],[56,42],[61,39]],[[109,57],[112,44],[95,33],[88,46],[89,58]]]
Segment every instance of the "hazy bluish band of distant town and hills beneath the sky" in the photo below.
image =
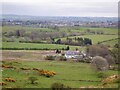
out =
[[[26,18],[27,17],[27,18]],[[21,25],[40,28],[57,27],[117,27],[117,17],[50,17],[50,16],[19,16],[4,15],[0,20],[2,25]]]

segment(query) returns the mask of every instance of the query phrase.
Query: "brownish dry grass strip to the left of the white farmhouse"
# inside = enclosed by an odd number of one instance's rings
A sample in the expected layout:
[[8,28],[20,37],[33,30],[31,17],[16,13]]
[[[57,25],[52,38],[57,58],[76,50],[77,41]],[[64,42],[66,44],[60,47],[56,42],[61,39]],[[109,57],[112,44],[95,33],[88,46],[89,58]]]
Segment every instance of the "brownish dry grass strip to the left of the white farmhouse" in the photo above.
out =
[[55,51],[34,51],[34,50],[3,50],[3,60],[45,60],[46,55],[56,54]]

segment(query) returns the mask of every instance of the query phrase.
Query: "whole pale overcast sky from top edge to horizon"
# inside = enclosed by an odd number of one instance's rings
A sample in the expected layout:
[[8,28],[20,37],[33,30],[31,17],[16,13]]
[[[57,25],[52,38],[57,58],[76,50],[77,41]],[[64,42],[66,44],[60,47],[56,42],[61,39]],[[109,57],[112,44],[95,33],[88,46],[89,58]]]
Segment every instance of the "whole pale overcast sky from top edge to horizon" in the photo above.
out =
[[[117,17],[119,0],[0,0],[2,14]],[[1,12],[0,12],[1,14]]]

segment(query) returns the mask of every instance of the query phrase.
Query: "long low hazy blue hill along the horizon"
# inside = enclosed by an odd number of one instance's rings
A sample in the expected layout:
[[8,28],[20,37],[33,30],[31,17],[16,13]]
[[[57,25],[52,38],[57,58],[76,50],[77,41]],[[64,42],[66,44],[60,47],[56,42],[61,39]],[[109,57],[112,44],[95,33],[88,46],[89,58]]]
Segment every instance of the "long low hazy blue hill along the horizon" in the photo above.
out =
[[81,21],[81,22],[117,22],[117,17],[68,17],[68,16],[28,16],[28,15],[2,15],[2,19],[9,20],[61,20],[61,21]]

